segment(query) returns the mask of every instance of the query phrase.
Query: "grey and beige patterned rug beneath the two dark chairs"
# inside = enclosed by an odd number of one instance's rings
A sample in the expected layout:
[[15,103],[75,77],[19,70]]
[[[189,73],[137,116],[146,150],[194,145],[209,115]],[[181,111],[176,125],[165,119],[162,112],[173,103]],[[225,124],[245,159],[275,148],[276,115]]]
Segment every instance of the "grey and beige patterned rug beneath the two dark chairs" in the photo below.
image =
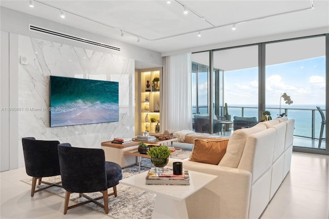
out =
[[[172,155],[172,158],[176,159],[187,159],[191,155],[191,150],[189,149],[182,149],[181,152]],[[150,159],[142,158],[141,165],[146,167],[153,167]],[[140,172],[148,171],[149,168],[140,168]],[[127,178],[138,174],[138,166],[132,166],[128,168],[122,169],[122,177]],[[43,180],[49,182],[58,182],[61,181],[60,176],[53,176],[53,177],[44,177]],[[22,179],[21,181],[31,185],[32,178]],[[44,187],[45,185],[38,186],[39,188]],[[59,187],[51,187],[46,189],[49,192],[52,192],[56,195],[59,195],[65,198],[65,190]],[[108,192],[112,192],[112,189],[109,189]],[[93,192],[93,193],[86,193],[90,197],[98,197],[101,195],[100,192]],[[139,189],[131,188],[124,185],[117,185],[117,197],[109,196],[108,197],[108,206],[109,212],[108,216],[123,219],[123,218],[151,218],[152,211],[155,203],[155,194],[150,192],[145,192]],[[86,199],[84,197],[79,198],[78,193],[72,193],[70,196],[70,200],[75,203],[84,202]],[[98,200],[100,203],[104,204],[103,199]],[[63,200],[64,202],[64,200]],[[88,206],[96,211],[99,211],[105,214],[104,209],[95,205],[94,203],[88,203],[85,206]],[[69,210],[68,210],[69,213]]]

